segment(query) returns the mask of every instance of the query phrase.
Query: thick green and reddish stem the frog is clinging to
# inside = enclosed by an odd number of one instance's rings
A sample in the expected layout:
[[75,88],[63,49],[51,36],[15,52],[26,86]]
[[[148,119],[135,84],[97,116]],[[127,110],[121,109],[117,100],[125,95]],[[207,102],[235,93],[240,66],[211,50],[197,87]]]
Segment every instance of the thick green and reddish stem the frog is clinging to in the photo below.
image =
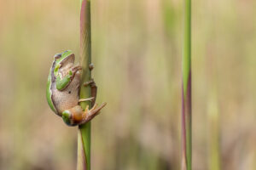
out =
[[[80,0],[80,7],[80,65],[83,67],[80,99],[87,99],[91,97],[90,87],[84,87],[83,82],[91,78],[90,0]],[[85,109],[90,101],[81,102],[80,105]],[[90,170],[90,122],[79,126],[77,170]]]

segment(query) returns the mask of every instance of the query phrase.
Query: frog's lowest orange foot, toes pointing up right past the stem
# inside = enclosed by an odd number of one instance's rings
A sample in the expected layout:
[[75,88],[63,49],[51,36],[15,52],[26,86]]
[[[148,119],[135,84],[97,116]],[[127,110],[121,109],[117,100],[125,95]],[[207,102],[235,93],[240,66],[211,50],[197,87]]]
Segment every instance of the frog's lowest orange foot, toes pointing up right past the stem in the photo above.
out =
[[83,116],[82,116],[82,121],[79,123],[79,125],[84,124],[85,122],[89,122],[91,119],[93,119],[93,117],[100,114],[100,111],[102,110],[102,108],[105,105],[107,105],[106,102],[104,102],[99,107],[97,107],[97,105],[93,105],[93,107],[90,110],[89,110],[89,105],[87,105],[87,107],[83,113]]

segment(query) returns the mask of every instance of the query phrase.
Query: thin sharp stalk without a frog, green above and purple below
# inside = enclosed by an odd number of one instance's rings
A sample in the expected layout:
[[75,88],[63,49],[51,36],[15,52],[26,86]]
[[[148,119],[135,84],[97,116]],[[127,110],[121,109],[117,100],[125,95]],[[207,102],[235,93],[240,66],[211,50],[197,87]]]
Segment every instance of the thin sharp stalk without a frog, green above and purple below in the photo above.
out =
[[184,1],[183,21],[182,170],[191,170],[191,0]]

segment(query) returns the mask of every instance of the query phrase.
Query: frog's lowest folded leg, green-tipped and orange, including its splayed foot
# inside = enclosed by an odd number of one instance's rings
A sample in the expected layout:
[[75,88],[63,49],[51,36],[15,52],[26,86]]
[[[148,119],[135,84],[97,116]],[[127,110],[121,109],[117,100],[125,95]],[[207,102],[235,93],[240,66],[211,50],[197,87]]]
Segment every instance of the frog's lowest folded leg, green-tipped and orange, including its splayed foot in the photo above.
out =
[[98,115],[102,108],[107,105],[103,103],[101,106],[97,107],[94,105],[89,110],[89,105],[87,105],[85,111],[83,111],[80,105],[76,105],[73,108],[62,112],[62,119],[68,126],[77,126],[89,122],[93,117]]

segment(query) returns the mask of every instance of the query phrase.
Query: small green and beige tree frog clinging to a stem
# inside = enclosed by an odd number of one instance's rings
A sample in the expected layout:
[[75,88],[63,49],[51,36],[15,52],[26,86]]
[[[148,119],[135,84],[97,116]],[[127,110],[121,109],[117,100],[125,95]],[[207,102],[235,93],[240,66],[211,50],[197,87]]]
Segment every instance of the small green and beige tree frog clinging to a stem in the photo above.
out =
[[[56,115],[61,116],[68,126],[81,125],[89,122],[94,116],[98,115],[106,105],[103,103],[97,107],[94,105],[95,96],[90,99],[79,99],[80,85],[80,65],[74,65],[75,55],[67,50],[61,54],[55,54],[53,64],[49,70],[47,81],[46,97],[49,107]],[[91,66],[91,65],[90,65]],[[90,67],[92,68],[92,67]],[[85,85],[94,84],[90,81]],[[96,86],[94,86],[96,87]],[[89,105],[83,111],[79,102],[91,100],[93,107],[89,110]]]

